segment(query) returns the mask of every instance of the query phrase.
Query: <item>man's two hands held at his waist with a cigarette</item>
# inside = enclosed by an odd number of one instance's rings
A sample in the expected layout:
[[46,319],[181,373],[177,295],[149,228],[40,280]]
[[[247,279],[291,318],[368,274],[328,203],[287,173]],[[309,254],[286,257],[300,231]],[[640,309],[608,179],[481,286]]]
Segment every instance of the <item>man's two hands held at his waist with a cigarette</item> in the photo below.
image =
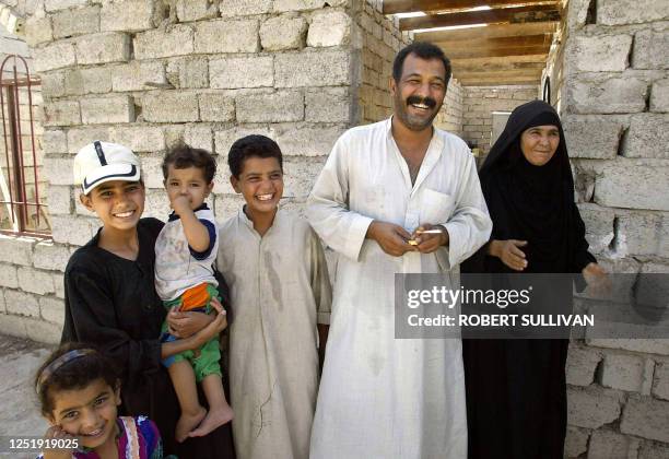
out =
[[[429,229],[441,229],[438,234],[425,234]],[[413,234],[395,223],[374,221],[367,228],[367,238],[376,240],[382,250],[392,257],[401,257],[408,251],[432,254],[443,245],[448,244],[448,232],[439,225],[424,223]],[[414,240],[416,245],[409,244]]]

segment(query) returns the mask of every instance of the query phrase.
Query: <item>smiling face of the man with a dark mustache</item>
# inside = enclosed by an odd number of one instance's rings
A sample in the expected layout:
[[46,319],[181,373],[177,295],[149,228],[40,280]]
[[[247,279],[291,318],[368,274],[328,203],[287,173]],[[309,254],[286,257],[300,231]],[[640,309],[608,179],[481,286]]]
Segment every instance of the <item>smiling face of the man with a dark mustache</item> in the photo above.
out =
[[421,59],[410,54],[399,82],[390,81],[395,116],[412,131],[432,126],[446,95],[446,68],[439,59]]

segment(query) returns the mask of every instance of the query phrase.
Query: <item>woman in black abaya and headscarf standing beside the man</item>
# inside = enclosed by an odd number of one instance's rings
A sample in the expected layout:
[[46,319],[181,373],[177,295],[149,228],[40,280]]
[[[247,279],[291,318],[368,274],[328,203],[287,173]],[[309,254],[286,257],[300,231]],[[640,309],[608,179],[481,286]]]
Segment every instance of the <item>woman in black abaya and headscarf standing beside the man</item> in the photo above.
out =
[[[480,170],[491,240],[463,272],[605,276],[574,203],[562,125],[541,101],[517,107]],[[470,459],[562,459],[568,340],[465,340]]]

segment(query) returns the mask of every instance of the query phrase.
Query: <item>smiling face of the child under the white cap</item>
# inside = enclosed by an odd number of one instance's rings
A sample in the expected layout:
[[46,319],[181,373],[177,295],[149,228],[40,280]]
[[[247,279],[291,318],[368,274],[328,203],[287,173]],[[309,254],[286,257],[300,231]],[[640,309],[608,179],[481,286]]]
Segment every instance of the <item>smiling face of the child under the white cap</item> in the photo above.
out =
[[95,187],[81,203],[95,212],[106,229],[130,231],[144,211],[144,186],[139,181],[113,180]]

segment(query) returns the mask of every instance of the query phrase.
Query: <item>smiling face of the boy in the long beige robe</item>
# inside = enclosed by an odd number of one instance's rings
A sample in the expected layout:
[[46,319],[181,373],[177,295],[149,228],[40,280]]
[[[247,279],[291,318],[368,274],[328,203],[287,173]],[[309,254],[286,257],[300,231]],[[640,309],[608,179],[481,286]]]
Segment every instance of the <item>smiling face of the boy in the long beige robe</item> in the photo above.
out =
[[283,196],[283,172],[275,157],[250,156],[244,161],[239,177],[230,178],[240,192],[250,215],[274,213]]

